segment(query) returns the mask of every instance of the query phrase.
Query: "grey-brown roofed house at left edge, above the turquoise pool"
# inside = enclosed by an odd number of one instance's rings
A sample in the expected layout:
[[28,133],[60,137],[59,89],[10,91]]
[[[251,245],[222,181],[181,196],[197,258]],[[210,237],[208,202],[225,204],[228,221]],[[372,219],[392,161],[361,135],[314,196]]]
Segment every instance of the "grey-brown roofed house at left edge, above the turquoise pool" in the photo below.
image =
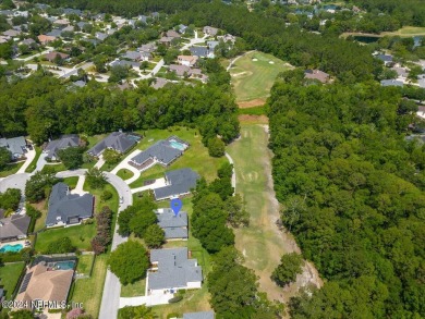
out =
[[0,209],[0,243],[26,238],[31,217],[14,213],[4,217],[4,210]]

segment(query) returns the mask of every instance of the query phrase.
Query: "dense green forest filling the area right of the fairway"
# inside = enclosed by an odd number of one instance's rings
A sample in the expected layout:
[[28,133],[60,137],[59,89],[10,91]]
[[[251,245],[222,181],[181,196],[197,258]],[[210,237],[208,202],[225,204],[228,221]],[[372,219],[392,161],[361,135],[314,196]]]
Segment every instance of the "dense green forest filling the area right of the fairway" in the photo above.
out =
[[326,279],[291,316],[424,317],[425,146],[404,139],[417,107],[397,88],[305,86],[293,71],[268,106],[282,221]]

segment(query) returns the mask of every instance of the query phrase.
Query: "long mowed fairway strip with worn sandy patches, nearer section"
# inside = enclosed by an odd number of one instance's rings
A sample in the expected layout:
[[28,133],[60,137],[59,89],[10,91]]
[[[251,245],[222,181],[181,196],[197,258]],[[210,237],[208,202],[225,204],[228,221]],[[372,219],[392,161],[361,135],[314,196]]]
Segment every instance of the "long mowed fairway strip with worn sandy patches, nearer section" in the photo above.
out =
[[276,225],[279,204],[271,181],[271,151],[267,148],[265,126],[241,123],[241,138],[227,147],[234,161],[236,193],[246,203],[251,216],[248,228],[236,229],[235,246],[245,257],[245,266],[259,277],[259,290],[270,299],[283,300],[282,289],[270,279],[280,257],[290,253],[293,238]]

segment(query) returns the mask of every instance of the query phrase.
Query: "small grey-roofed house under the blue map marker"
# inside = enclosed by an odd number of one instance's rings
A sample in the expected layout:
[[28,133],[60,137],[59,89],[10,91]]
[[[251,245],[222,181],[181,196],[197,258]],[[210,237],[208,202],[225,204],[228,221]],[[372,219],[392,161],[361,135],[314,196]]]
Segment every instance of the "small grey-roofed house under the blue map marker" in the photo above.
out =
[[159,208],[155,213],[167,241],[187,240],[187,212],[175,214],[171,208]]

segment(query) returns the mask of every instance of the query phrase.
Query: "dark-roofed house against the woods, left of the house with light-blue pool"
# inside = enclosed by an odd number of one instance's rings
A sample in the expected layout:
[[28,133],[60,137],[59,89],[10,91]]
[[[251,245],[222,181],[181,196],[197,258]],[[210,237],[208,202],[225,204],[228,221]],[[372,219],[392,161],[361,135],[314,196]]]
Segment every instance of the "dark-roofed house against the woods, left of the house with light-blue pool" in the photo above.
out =
[[113,149],[120,154],[126,152],[133,147],[141,138],[135,135],[129,135],[123,132],[113,132],[96,144],[93,148],[87,150],[92,156],[100,156],[105,149]]

